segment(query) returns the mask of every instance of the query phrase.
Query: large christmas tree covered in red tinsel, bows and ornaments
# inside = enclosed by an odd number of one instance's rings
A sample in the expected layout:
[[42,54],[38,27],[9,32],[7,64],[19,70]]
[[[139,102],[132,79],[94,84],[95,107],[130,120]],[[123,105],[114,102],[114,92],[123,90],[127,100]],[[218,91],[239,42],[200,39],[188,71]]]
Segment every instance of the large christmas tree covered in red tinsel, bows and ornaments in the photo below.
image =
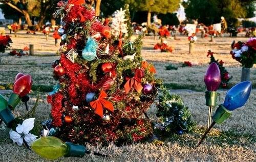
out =
[[53,63],[59,84],[48,96],[51,134],[79,144],[117,145],[152,136],[145,112],[161,81],[141,57],[142,37],[131,41],[122,23],[115,30],[104,26],[83,0],[60,1],[55,15],[65,25],[58,30],[60,59]]

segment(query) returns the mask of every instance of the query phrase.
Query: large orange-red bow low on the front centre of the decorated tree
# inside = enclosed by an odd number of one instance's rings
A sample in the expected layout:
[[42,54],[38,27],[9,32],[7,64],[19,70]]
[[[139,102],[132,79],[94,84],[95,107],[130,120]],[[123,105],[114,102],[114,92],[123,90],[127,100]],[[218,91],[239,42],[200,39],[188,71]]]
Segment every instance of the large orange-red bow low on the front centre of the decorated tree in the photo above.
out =
[[110,101],[105,100],[108,95],[101,91],[99,94],[99,98],[90,102],[90,105],[95,109],[95,113],[98,114],[101,118],[103,117],[103,107],[108,109],[111,112],[114,112],[114,106]]

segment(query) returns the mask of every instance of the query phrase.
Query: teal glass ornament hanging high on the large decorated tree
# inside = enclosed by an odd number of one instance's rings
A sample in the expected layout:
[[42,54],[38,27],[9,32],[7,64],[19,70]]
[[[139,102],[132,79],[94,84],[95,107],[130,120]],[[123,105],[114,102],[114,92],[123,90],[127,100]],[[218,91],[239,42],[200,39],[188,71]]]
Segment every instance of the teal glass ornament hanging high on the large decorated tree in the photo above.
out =
[[98,48],[98,43],[96,42],[96,40],[91,37],[88,38],[86,42],[86,46],[82,50],[83,59],[87,61],[94,60],[97,57],[96,55],[97,48]]

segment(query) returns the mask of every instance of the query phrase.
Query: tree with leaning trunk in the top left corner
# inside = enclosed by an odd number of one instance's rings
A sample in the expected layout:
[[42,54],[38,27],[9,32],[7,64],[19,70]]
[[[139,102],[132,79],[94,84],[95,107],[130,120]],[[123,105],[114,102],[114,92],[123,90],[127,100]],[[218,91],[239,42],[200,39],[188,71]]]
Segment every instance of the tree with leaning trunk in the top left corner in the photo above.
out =
[[23,14],[29,26],[33,25],[30,16],[38,16],[40,12],[40,1],[0,0],[0,3],[6,4]]

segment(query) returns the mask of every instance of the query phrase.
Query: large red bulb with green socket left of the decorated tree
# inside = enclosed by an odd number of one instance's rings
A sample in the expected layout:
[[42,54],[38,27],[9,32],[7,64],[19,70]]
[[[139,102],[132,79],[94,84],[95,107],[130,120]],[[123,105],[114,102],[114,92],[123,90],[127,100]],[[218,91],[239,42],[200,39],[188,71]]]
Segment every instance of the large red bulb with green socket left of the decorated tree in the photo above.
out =
[[[8,100],[8,106],[11,110],[14,110],[20,100],[30,92],[31,87],[32,78],[30,75],[23,75],[16,80],[13,85],[13,93]],[[23,101],[28,101],[27,97]]]

